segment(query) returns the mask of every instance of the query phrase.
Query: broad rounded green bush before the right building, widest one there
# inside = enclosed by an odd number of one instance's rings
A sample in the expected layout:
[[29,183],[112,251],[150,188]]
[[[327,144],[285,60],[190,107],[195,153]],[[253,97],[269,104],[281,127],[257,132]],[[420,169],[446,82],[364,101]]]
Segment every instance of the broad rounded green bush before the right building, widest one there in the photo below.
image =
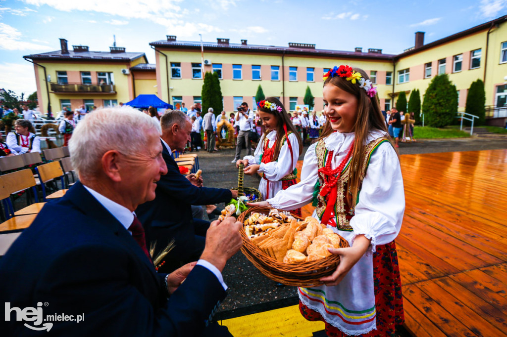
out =
[[424,94],[422,112],[424,122],[430,127],[443,128],[450,125],[458,111],[456,86],[447,74],[433,77]]

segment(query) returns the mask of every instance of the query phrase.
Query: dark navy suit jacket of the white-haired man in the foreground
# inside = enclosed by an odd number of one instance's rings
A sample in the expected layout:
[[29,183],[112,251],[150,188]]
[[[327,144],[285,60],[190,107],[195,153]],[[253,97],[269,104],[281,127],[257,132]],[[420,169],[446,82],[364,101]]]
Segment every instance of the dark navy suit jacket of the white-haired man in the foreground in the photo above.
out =
[[[167,300],[163,274],[129,232],[76,183],[48,202],[0,260],[0,333],[62,336],[191,336],[200,334],[225,298],[219,280],[196,266]],[[5,321],[4,303],[47,302],[44,315],[84,313],[84,321],[53,322],[48,332]],[[33,323],[33,322],[26,322]],[[34,324],[30,324],[34,325]]]

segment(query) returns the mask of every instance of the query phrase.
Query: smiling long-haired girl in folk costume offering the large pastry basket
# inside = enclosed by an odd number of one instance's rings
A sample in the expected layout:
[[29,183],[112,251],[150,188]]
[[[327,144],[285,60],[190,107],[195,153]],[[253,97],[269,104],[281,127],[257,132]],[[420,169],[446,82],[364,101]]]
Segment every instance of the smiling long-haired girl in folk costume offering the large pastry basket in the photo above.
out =
[[298,288],[306,319],[324,321],[330,336],[393,336],[404,322],[394,244],[405,210],[400,161],[366,73],[340,66],[323,79],[327,121],[301,182],[258,204],[290,210],[313,200],[313,216],[350,244],[329,249],[341,261],[324,285]]

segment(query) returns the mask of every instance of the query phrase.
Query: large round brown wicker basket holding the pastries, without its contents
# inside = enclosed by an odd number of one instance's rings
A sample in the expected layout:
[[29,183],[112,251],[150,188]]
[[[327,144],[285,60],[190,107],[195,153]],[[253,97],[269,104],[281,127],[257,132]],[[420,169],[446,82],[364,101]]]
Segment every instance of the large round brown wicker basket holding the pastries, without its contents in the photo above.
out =
[[[272,208],[260,206],[251,207],[240,214],[238,221],[244,223],[248,215],[254,212],[268,214],[270,209]],[[293,217],[302,220],[302,218],[295,215],[293,215]],[[274,281],[286,285],[306,287],[311,285],[320,285],[322,284],[320,278],[331,275],[340,263],[340,256],[335,254],[317,261],[293,264],[282,263],[269,257],[261,249],[259,249],[257,245],[253,244],[246,236],[244,230],[241,230],[241,237],[243,238],[243,246],[241,247],[243,255],[254,266],[256,266],[261,273]],[[340,246],[348,247],[349,244],[347,240],[341,236],[340,238]]]

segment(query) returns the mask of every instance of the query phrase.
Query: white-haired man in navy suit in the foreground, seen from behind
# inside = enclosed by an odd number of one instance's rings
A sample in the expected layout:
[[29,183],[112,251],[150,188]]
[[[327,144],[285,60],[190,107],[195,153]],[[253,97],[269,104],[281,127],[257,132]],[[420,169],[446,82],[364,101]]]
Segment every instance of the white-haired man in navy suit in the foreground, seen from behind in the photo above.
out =
[[226,295],[221,270],[241,247],[239,222],[213,222],[201,259],[169,275],[148,256],[134,209],[167,172],[156,122],[133,108],[98,109],[69,150],[80,182],[0,260],[2,335],[230,336],[211,319]]

